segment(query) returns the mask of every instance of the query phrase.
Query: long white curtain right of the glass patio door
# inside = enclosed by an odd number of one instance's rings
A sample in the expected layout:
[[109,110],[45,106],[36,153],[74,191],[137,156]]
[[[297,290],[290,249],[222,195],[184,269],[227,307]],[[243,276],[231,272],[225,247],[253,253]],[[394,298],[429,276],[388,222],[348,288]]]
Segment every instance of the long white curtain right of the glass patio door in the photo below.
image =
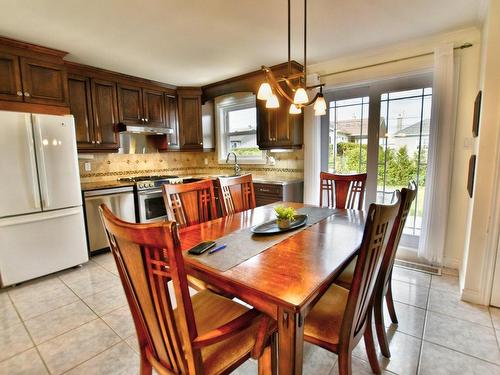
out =
[[443,261],[450,204],[458,63],[458,60],[454,61],[452,44],[442,45],[434,50],[429,164],[418,256],[437,266],[442,265]]

